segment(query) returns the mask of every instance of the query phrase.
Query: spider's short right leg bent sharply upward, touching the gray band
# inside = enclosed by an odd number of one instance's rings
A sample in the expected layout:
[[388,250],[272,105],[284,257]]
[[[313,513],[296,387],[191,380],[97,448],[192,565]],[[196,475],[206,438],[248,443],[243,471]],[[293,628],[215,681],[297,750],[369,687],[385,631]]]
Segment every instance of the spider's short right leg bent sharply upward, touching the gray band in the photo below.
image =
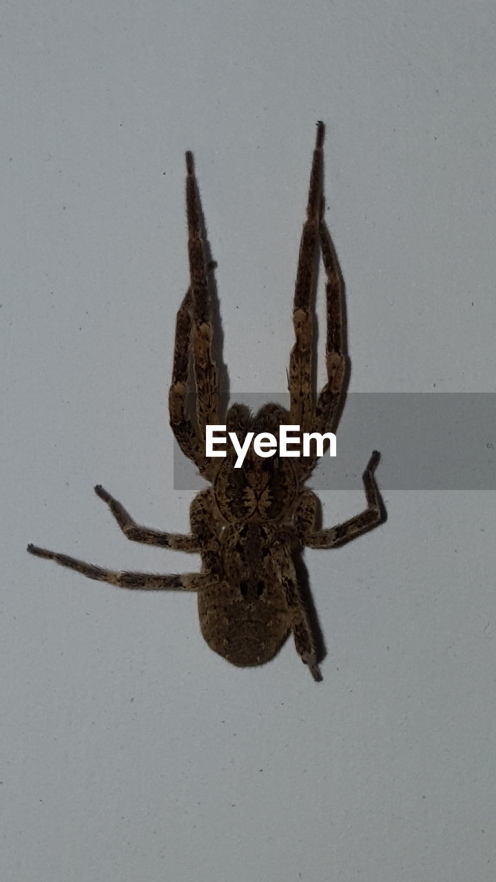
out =
[[374,450],[367,467],[364,470],[363,481],[367,507],[364,512],[355,515],[354,518],[345,520],[336,527],[327,527],[317,530],[315,521],[318,512],[318,499],[312,490],[303,490],[299,499],[294,516],[294,525],[297,529],[302,545],[311,549],[333,549],[357,539],[374,527],[379,527],[386,520],[386,510],[380,490],[375,480],[375,469],[379,465],[380,453]]

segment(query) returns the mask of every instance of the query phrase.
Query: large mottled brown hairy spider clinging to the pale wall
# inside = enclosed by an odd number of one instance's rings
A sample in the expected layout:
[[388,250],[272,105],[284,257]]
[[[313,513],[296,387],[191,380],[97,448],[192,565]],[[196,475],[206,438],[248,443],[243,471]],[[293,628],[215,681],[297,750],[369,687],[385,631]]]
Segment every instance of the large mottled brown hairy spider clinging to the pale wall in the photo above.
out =
[[[346,392],[348,359],[343,329],[341,272],[323,219],[324,123],[317,123],[306,220],[301,238],[293,308],[296,341],[289,359],[289,411],[269,403],[252,415],[233,404],[225,415],[228,431],[243,441],[248,431],[274,432],[282,424],[324,433],[337,424]],[[297,653],[316,681],[319,658],[309,610],[297,577],[304,547],[332,549],[378,527],[386,519],[374,472],[377,451],[364,470],[367,506],[337,527],[319,528],[318,497],[304,486],[317,463],[316,452],[302,459],[277,455],[260,459],[248,452],[235,468],[206,455],[206,424],[219,424],[219,381],[212,354],[206,243],[192,153],[186,159],[186,208],[191,283],[177,312],[170,425],[184,454],[211,487],[192,500],[191,533],[162,533],[140,527],[124,506],[98,484],[94,490],[109,505],[117,524],[133,542],[199,552],[201,572],[153,575],[114,572],[55,551],[27,550],[81,572],[89,579],[125,588],[196,591],[199,624],[209,647],[238,667],[271,660],[292,632]],[[327,283],[327,383],[314,390],[312,295],[321,253]],[[187,407],[188,381],[194,380],[195,413]]]

